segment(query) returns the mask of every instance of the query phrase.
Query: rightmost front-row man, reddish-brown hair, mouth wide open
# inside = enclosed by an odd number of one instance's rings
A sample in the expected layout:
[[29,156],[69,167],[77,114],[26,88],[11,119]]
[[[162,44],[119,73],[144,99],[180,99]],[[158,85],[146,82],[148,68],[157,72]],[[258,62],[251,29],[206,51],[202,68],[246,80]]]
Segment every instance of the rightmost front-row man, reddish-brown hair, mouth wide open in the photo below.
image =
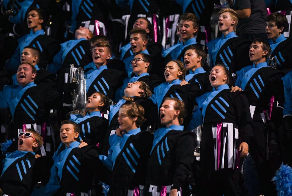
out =
[[180,192],[181,188],[188,188],[187,178],[192,173],[195,142],[193,133],[183,131],[181,126],[186,115],[185,104],[177,98],[166,98],[159,115],[165,128],[154,132],[144,194],[188,195],[187,192]]

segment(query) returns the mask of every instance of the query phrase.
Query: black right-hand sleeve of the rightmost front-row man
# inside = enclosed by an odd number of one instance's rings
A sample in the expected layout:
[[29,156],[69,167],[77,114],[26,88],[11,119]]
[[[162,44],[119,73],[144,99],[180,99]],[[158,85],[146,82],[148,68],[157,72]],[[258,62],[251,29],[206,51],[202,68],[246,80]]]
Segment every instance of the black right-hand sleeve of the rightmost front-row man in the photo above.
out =
[[171,189],[179,190],[192,173],[191,165],[194,161],[195,144],[189,135],[181,136],[176,145],[176,171]]

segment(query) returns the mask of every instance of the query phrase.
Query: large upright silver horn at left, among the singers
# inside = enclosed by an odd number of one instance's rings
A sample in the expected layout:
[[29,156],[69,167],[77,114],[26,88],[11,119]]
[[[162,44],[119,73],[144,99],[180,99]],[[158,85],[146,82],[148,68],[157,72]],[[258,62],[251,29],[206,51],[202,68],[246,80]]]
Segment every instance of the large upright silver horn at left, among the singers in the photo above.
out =
[[73,111],[66,115],[67,119],[70,119],[71,114],[80,114],[83,112],[86,106],[86,81],[84,71],[81,67],[75,68],[74,64],[70,65],[69,83],[72,82],[76,82],[78,84],[78,90],[74,89],[71,93]]

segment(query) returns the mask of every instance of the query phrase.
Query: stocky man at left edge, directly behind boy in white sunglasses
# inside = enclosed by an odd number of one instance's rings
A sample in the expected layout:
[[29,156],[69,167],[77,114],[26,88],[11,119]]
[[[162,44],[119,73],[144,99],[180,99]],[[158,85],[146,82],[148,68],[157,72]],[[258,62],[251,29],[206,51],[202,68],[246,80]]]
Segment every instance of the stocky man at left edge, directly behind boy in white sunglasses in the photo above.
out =
[[[49,125],[50,108],[56,105],[59,93],[54,84],[34,84],[36,67],[21,63],[17,71],[18,85],[6,85],[0,93],[1,108],[9,107],[13,119],[10,138],[18,139],[27,128],[42,135],[42,155],[54,152],[54,132]],[[46,152],[45,152],[46,151]]]

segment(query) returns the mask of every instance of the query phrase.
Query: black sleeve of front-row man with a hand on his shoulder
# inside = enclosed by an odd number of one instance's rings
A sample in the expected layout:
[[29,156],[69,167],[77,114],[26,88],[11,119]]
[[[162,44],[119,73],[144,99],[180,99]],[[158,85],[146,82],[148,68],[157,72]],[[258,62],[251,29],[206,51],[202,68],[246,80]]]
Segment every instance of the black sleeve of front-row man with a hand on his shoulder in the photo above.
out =
[[85,153],[87,167],[94,172],[95,177],[106,184],[111,184],[111,171],[99,159],[98,150],[92,148]]

